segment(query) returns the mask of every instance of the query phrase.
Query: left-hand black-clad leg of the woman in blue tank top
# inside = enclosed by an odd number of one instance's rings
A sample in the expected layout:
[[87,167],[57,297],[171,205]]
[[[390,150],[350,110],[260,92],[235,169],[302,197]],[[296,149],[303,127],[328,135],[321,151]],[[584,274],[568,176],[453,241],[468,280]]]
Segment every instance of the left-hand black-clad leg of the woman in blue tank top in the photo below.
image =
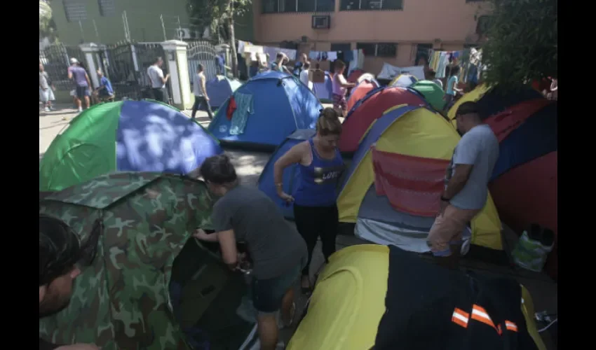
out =
[[311,287],[309,272],[311,260],[313,258],[313,250],[317,244],[318,237],[318,225],[316,221],[317,209],[318,208],[315,207],[303,207],[294,204],[294,221],[296,223],[296,228],[306,242],[306,248],[309,251],[309,259],[307,260],[304,269],[302,269],[302,279],[300,282],[303,293],[306,293]]

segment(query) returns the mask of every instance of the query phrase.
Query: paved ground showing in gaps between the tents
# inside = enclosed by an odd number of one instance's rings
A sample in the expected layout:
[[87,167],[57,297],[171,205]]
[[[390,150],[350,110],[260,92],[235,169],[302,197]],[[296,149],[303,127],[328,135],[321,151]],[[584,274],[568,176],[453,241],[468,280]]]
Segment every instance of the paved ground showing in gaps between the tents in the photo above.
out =
[[[190,115],[189,111],[186,111]],[[52,140],[63,128],[67,126],[69,120],[76,116],[76,110],[71,106],[58,105],[57,111],[39,113],[39,160],[43,157],[43,153],[51,144]],[[204,127],[209,125],[209,118],[206,113],[199,112],[198,121]],[[226,151],[230,156],[233,164],[236,166],[238,176],[241,178],[241,183],[250,186],[256,186],[257,179],[262,172],[262,169],[269,160],[269,153],[256,153],[248,151]],[[505,228],[504,236],[506,237],[506,245],[513,246],[515,244],[515,233]],[[340,236],[337,239],[337,248],[341,249],[345,246],[353,244],[366,243],[353,236]],[[320,247],[315,248],[313,255],[313,263],[311,265],[311,275],[315,274],[318,268],[323,264],[323,254],[320,253]],[[499,276],[510,276],[522,283],[530,291],[536,311],[547,310],[551,314],[557,313],[557,283],[554,283],[545,274],[537,274],[528,272],[522,269],[514,269],[511,267],[499,267],[490,265],[478,260],[463,260],[463,268],[473,269],[485,274],[494,274]],[[299,285],[297,284],[296,295],[299,294]],[[302,314],[304,305],[306,304],[306,297],[301,296],[297,300],[298,312]],[[287,342],[292,336],[294,329],[287,329],[282,331],[282,339]],[[549,350],[554,350],[556,347],[548,335],[548,332],[543,332],[543,339],[545,340]]]

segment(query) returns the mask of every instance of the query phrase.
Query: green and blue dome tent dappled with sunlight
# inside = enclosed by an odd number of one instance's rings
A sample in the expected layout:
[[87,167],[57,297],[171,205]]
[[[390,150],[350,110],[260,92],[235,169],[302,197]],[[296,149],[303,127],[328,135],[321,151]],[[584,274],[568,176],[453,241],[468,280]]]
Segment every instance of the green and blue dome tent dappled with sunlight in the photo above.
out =
[[222,153],[217,139],[177,109],[150,101],[98,104],[57,135],[39,163],[39,190],[117,171],[190,174]]

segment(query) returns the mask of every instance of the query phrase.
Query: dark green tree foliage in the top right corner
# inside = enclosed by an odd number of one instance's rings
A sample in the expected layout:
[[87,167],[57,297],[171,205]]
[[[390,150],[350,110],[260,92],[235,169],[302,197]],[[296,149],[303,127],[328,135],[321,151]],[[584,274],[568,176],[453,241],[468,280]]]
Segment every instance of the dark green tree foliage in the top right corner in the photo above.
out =
[[485,81],[503,87],[557,77],[557,0],[490,0],[482,61]]

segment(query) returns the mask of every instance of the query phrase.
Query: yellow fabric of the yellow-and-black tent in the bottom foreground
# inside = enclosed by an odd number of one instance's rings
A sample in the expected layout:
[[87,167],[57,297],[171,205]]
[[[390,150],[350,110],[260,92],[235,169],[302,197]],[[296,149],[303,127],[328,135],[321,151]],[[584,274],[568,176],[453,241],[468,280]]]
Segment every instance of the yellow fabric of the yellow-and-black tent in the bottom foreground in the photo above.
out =
[[[319,275],[306,317],[287,350],[370,349],[385,312],[389,249],[365,244],[334,253]],[[522,286],[522,313],[539,350],[546,350],[534,322],[534,306]],[[396,348],[399,349],[398,344]]]

